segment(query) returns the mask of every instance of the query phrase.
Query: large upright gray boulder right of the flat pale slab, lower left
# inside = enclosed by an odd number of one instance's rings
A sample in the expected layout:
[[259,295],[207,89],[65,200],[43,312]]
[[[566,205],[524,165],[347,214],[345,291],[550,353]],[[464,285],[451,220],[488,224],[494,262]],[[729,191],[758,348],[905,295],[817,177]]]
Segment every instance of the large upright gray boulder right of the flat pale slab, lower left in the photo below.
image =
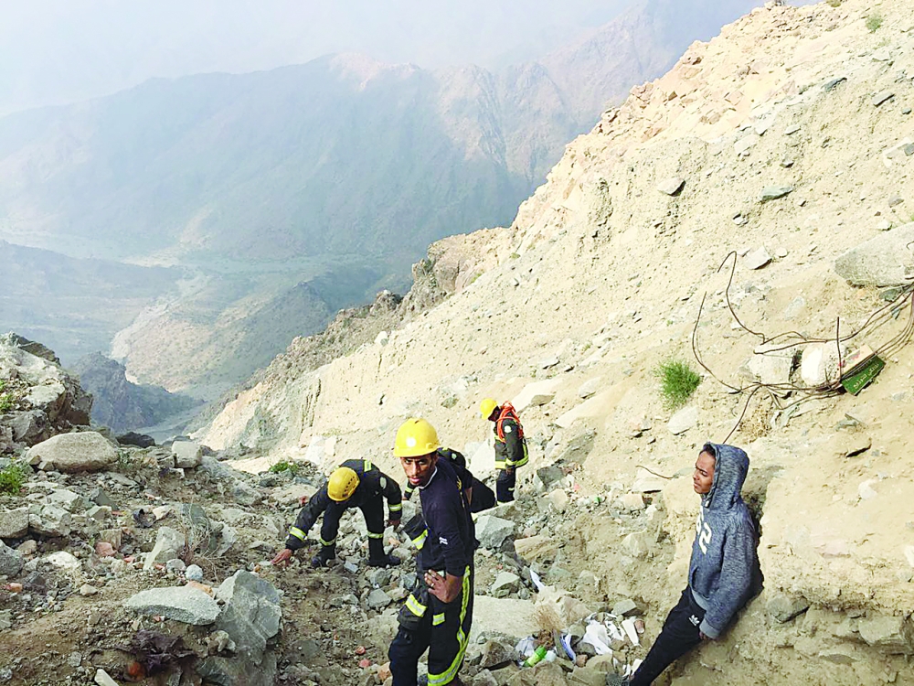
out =
[[225,603],[216,628],[235,641],[239,656],[260,664],[267,641],[280,630],[280,595],[270,582],[245,571],[228,577],[216,595]]

